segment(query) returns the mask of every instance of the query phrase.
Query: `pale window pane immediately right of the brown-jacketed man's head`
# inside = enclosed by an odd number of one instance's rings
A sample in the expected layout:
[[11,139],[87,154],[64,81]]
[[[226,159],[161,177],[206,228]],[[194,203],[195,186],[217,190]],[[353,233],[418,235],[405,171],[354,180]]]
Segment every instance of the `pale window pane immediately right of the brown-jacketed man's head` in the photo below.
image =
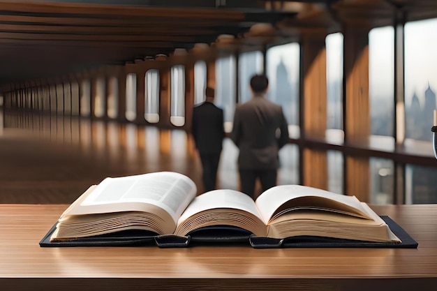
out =
[[288,124],[299,124],[299,44],[277,45],[267,50],[267,98],[283,107]]

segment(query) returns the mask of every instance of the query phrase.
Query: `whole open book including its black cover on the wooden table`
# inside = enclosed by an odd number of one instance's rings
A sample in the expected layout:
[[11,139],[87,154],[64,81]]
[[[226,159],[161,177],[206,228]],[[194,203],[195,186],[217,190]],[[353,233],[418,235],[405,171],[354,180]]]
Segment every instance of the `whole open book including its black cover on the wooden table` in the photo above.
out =
[[354,196],[299,185],[276,186],[255,201],[235,190],[196,191],[175,172],[104,179],[64,211],[40,246],[417,247]]

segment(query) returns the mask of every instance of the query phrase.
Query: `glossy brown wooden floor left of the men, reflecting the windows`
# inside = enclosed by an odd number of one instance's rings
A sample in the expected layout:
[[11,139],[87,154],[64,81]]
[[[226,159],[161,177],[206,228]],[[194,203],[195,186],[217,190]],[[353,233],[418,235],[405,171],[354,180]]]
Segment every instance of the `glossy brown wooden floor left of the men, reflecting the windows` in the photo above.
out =
[[0,203],[71,203],[105,177],[167,170],[186,174],[202,191],[184,130],[53,117],[3,122]]

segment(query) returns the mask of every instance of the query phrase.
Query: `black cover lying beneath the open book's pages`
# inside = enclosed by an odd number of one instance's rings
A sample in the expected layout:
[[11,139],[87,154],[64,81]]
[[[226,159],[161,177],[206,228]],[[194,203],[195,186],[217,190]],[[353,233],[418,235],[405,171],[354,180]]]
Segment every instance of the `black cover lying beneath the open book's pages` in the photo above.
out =
[[389,216],[381,216],[390,230],[401,239],[401,243],[356,241],[351,239],[334,239],[329,237],[288,237],[272,239],[256,237],[251,232],[239,227],[212,226],[202,227],[191,232],[186,237],[172,234],[158,235],[147,231],[123,231],[104,234],[95,237],[71,239],[68,241],[51,242],[50,236],[56,229],[56,224],[41,239],[41,247],[63,246],[158,246],[160,248],[186,248],[196,245],[223,246],[244,244],[253,248],[417,248],[413,237],[392,220]]

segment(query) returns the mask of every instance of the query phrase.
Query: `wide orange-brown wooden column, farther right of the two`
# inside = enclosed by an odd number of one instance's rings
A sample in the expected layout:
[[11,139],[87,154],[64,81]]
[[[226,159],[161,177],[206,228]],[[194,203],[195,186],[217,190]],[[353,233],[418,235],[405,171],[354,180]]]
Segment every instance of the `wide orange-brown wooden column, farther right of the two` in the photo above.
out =
[[[346,144],[367,144],[370,134],[369,110],[369,29],[346,26],[344,29],[343,95],[344,138]],[[345,158],[345,193],[369,202],[369,158]]]

